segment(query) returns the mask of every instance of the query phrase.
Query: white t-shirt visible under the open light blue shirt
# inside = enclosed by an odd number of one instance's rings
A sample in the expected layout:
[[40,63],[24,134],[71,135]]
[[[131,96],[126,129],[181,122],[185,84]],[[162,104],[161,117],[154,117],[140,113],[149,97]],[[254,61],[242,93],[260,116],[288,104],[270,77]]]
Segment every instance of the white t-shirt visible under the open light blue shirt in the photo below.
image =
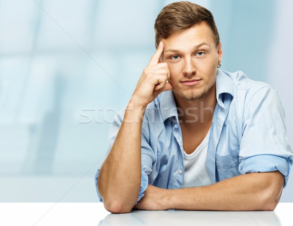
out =
[[207,170],[207,153],[209,132],[201,144],[191,154],[184,151],[184,180],[182,188],[211,185],[211,179]]

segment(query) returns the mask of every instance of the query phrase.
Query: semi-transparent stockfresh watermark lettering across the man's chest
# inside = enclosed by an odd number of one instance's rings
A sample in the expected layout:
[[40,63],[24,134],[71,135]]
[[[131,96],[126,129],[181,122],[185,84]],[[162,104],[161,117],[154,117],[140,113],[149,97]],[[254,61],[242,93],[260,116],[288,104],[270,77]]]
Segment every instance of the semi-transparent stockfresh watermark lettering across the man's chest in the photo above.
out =
[[[113,123],[115,122],[115,115],[118,112],[119,111],[114,108],[100,108],[98,105],[96,105],[94,108],[84,108],[79,112],[79,123]],[[124,120],[124,114],[126,114],[126,112],[132,114],[133,117],[130,117],[130,119],[128,117],[127,120]],[[144,117],[145,114],[138,115],[138,111],[136,109],[126,108],[122,112],[121,117],[124,123],[138,123],[140,120],[143,120],[145,123],[164,123],[164,115],[168,115],[172,122],[203,123],[205,122],[205,119],[210,120],[213,116],[213,113],[214,109],[211,107],[205,107],[205,104],[202,101],[200,102],[199,107],[188,107],[186,109],[179,107],[169,107],[165,109],[161,109],[160,107],[153,109],[147,108],[145,111],[147,117]],[[118,120],[118,118],[116,118],[116,120]]]

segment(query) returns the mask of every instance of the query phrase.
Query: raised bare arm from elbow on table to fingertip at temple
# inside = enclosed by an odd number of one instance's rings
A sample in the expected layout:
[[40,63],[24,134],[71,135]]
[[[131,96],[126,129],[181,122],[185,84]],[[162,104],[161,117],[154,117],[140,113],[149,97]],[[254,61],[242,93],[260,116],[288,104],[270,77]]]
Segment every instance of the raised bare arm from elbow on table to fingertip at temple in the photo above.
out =
[[146,106],[162,92],[173,89],[167,82],[170,77],[167,63],[160,61],[163,51],[161,41],[136,84],[114,144],[99,172],[98,190],[105,208],[111,212],[129,212],[139,196]]

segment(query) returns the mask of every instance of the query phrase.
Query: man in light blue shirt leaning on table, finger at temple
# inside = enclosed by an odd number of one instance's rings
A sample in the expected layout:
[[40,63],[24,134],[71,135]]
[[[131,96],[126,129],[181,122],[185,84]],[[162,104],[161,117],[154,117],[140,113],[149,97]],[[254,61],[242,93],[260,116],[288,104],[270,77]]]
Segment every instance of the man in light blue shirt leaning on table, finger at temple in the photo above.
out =
[[202,6],[167,5],[155,33],[95,177],[105,208],[273,210],[293,163],[278,94],[218,69],[219,34]]

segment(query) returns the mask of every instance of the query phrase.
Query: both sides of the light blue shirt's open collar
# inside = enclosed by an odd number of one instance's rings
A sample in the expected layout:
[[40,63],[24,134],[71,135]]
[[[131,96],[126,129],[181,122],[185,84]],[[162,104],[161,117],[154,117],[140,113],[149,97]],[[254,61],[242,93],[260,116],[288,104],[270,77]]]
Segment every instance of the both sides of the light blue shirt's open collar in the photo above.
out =
[[[234,82],[229,75],[220,69],[217,69],[216,75],[216,98],[218,104],[224,108],[224,95],[230,94],[234,96]],[[161,94],[160,110],[162,113],[163,121],[167,118],[175,116],[178,120],[177,107],[174,100],[174,94],[172,90],[165,91]]]

